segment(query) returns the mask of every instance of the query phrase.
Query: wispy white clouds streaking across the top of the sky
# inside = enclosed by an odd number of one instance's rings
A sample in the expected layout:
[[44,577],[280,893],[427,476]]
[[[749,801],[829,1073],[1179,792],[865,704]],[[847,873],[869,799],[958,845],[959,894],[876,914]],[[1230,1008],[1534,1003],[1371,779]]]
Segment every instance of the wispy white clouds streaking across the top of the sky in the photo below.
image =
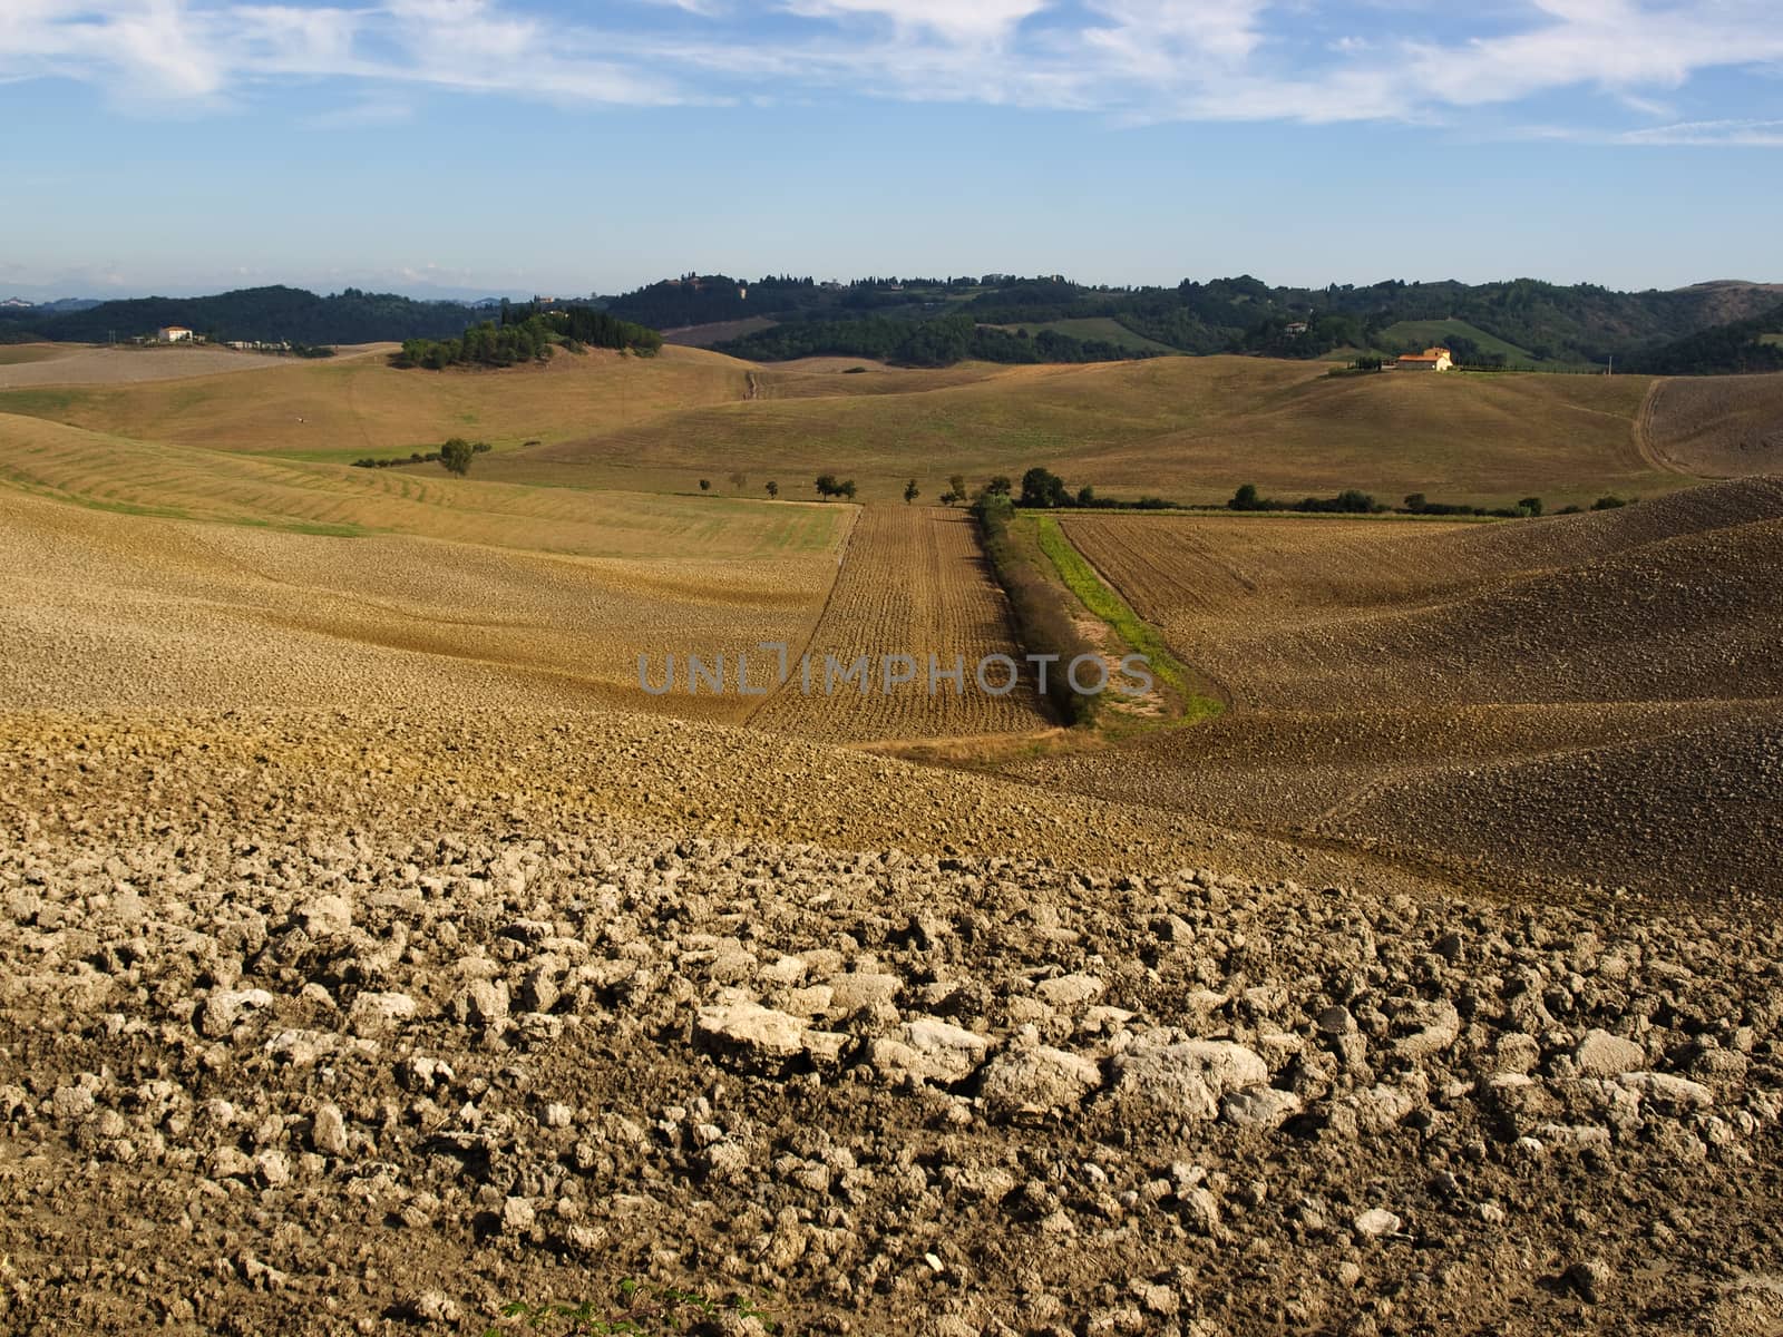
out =
[[364,107],[426,89],[592,105],[867,94],[1122,119],[1498,109],[1516,132],[1526,103],[1583,93],[1582,137],[1774,146],[1778,123],[1753,118],[1769,109],[1690,94],[1776,68],[1776,0],[1524,0],[1480,20],[1412,0],[633,0],[601,23],[517,0],[4,0],[0,14],[0,80],[175,105],[341,78]]

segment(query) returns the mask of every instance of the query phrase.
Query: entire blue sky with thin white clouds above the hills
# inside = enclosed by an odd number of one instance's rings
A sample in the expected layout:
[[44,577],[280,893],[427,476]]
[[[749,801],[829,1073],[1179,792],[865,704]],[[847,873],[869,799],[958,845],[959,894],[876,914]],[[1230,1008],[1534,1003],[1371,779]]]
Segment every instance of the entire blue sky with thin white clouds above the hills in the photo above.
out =
[[0,296],[1783,280],[1778,0],[0,0]]

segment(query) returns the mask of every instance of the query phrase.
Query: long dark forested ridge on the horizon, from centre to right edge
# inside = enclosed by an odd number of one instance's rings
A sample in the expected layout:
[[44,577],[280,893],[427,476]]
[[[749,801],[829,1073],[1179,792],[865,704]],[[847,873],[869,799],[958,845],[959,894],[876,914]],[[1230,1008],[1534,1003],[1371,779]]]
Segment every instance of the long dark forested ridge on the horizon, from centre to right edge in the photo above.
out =
[[[879,355],[870,348],[933,344],[940,317],[1022,335],[1041,333],[1054,353],[1097,357],[1107,342],[1123,355],[1268,353],[1325,357],[1334,349],[1405,353],[1426,342],[1485,365],[1601,365],[1630,358],[1730,321],[1760,316],[1778,289],[1717,282],[1687,289],[1617,292],[1590,283],[1562,287],[1532,278],[1498,283],[1271,287],[1259,278],[1184,280],[1175,287],[1091,287],[1063,276],[861,278],[817,283],[776,275],[760,280],[683,275],[608,301],[608,310],[660,330],[747,317],[776,321],[729,351],[801,357],[811,351]],[[822,328],[804,328],[822,326]],[[895,326],[895,328],[893,328]],[[950,335],[949,335],[950,339]],[[1027,360],[1029,351],[1007,346]],[[897,360],[897,358],[893,358]]]

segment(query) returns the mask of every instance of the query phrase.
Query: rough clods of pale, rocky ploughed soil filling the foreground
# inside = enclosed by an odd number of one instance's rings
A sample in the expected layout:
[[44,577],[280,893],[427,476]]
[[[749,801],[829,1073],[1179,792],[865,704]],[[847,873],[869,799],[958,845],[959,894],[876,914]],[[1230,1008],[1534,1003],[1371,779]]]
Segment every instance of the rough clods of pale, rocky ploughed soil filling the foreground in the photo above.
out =
[[1783,1326],[1769,916],[426,820],[225,752],[5,770],[7,1332]]

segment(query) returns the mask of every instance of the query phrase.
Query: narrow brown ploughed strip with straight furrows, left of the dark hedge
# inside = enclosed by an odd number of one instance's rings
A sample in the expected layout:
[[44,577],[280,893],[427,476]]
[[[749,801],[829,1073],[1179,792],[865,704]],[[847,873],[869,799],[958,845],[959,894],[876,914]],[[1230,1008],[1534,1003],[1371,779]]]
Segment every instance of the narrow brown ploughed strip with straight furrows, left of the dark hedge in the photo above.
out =
[[[792,647],[788,681],[761,702],[751,724],[776,733],[826,742],[965,738],[1023,733],[1050,724],[1034,690],[1023,679],[1013,692],[993,697],[977,688],[984,656],[1007,654],[1020,661],[1007,601],[997,586],[972,531],[972,519],[934,506],[877,506],[861,512],[847,560],[836,574],[824,617],[804,656],[811,663],[811,690],[804,690],[799,647]],[[908,656],[915,681],[886,686],[884,656]],[[965,663],[965,685],[934,679]],[[859,688],[836,683],[826,692],[827,660],[847,668],[865,658]],[[1002,667],[988,670],[1002,686]]]

